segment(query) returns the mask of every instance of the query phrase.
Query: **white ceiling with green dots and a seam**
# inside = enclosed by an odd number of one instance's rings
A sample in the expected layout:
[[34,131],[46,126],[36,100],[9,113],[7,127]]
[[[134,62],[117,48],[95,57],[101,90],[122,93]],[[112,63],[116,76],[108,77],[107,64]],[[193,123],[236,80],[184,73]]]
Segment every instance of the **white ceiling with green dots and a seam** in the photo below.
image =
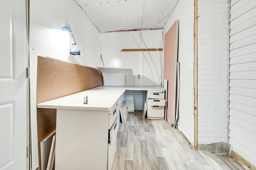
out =
[[75,0],[100,32],[163,29],[179,0]]

